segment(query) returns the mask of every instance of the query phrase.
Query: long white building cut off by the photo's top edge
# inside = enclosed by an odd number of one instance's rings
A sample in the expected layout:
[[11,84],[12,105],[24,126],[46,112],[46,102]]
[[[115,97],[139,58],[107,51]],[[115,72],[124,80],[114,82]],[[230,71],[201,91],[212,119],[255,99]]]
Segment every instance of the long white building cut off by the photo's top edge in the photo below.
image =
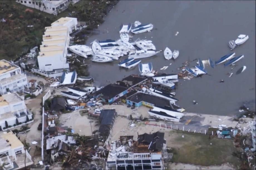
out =
[[57,15],[61,11],[64,11],[68,8],[68,4],[77,3],[79,0],[19,0],[16,1],[25,6],[39,9],[40,11],[47,12],[49,14]]

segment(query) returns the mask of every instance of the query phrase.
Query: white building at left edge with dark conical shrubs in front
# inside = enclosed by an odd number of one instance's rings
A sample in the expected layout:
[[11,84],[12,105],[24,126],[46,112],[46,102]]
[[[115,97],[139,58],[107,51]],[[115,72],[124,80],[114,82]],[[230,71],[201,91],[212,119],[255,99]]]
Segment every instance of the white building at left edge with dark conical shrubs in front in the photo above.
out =
[[25,123],[25,121],[27,121],[27,116],[29,122],[32,122],[32,114],[27,110],[23,98],[16,92],[5,94],[0,97],[0,127],[2,130],[8,128],[6,127],[6,122],[8,126],[12,127],[17,126],[17,124]]

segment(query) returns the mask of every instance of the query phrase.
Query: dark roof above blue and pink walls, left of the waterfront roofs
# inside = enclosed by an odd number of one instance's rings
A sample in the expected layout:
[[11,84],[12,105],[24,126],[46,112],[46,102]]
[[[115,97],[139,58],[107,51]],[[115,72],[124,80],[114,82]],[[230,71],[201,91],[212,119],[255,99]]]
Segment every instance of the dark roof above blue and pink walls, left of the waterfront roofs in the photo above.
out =
[[105,100],[109,100],[109,99],[115,97],[116,95],[119,95],[120,93],[124,92],[127,89],[128,88],[117,85],[117,84],[109,84],[109,85],[105,86],[104,88],[96,91],[93,95],[98,96],[98,95],[102,94],[101,98],[103,98]]

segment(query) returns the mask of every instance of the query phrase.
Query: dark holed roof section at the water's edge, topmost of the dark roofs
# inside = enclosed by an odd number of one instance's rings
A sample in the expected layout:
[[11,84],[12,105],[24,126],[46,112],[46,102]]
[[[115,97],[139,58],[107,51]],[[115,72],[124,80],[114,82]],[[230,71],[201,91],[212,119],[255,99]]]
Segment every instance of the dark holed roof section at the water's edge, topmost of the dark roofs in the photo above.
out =
[[131,88],[131,87],[134,87],[137,84],[142,83],[146,80],[147,80],[147,78],[144,78],[144,77],[139,77],[137,75],[129,75],[129,76],[123,78],[122,80],[117,81],[116,84],[123,86],[123,87]]

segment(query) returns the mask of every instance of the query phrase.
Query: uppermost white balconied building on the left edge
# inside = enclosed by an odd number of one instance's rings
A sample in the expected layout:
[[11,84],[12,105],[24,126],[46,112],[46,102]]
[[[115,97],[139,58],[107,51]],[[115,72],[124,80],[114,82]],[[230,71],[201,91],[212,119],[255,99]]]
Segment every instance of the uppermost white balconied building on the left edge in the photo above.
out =
[[20,67],[6,60],[0,60],[0,94],[18,92],[28,87],[27,76]]

